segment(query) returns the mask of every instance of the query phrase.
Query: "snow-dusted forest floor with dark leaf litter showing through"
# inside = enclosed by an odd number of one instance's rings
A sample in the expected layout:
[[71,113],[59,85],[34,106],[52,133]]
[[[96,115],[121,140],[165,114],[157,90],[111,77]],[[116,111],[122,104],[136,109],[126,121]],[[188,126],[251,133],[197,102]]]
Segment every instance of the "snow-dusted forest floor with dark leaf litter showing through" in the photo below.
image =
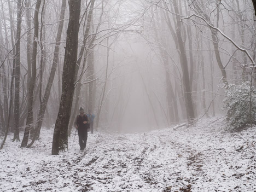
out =
[[146,133],[89,133],[79,151],[51,155],[53,128],[32,148],[0,151],[0,191],[256,191],[256,127],[229,132],[220,119]]

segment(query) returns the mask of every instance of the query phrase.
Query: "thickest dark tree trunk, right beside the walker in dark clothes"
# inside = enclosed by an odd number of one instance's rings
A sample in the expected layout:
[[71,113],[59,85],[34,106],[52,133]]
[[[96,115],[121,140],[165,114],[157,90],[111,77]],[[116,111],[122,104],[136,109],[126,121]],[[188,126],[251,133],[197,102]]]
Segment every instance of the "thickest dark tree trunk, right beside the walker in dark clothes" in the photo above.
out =
[[54,127],[52,155],[68,147],[68,122],[74,94],[74,74],[77,64],[78,31],[81,0],[69,1],[69,22],[62,73],[62,94],[59,113]]

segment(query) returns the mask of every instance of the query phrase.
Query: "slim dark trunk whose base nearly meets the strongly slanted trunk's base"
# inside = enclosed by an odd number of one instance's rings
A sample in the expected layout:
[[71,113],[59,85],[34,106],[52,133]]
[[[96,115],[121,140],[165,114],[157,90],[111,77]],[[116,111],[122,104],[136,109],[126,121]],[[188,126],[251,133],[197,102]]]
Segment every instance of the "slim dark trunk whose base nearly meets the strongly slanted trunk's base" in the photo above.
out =
[[33,129],[33,100],[34,100],[34,85],[36,84],[36,73],[37,73],[37,39],[38,39],[38,15],[41,5],[41,0],[37,0],[36,9],[34,10],[34,37],[33,37],[33,51],[32,51],[32,74],[30,88],[28,89],[27,97],[27,123],[24,132],[24,137],[20,147],[26,147],[28,143],[28,136],[30,130]]

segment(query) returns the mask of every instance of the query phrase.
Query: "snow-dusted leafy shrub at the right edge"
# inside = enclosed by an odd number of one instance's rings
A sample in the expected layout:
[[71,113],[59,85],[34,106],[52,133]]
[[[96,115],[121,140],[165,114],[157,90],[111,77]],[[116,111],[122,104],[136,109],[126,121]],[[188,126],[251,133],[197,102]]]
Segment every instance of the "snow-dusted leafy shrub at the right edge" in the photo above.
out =
[[245,82],[240,85],[225,85],[226,98],[223,101],[223,109],[228,110],[228,124],[232,129],[238,129],[251,124],[251,118],[253,124],[256,122],[256,89],[255,86],[252,86],[252,109],[250,115],[250,85],[251,82]]

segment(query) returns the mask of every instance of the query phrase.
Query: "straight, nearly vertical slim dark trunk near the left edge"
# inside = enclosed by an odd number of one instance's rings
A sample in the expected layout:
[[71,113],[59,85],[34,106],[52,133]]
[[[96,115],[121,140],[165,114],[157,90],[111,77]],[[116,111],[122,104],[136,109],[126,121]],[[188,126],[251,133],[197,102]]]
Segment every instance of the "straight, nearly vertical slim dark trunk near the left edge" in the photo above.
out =
[[15,62],[15,96],[14,96],[14,136],[13,141],[20,141],[20,36],[21,36],[21,17],[22,17],[22,1],[17,2],[17,31],[16,31],[16,54]]

